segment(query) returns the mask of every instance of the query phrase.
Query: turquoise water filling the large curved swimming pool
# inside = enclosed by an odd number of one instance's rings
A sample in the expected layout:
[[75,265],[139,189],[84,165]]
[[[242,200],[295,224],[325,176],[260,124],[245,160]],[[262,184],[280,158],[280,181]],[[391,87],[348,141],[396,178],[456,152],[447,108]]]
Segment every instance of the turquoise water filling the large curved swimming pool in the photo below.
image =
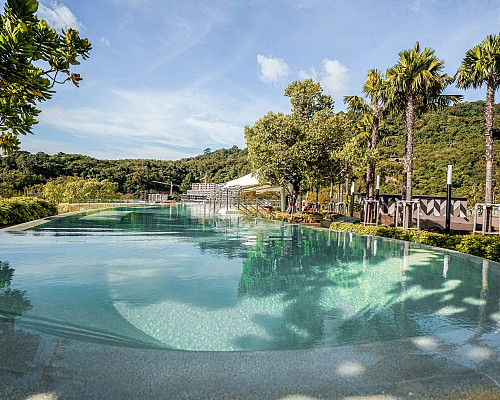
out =
[[201,206],[0,232],[0,329],[203,351],[397,338],[500,346],[500,265]]

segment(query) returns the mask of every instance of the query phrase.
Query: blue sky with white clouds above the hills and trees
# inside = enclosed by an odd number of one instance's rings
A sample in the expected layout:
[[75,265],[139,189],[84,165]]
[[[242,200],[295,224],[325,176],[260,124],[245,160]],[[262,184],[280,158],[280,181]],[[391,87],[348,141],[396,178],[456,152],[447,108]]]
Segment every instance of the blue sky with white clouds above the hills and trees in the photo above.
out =
[[[5,1],[0,1],[2,5]],[[369,69],[431,47],[453,75],[465,52],[500,31],[500,0],[42,0],[39,18],[92,43],[42,103],[21,150],[100,159],[177,160],[234,145],[285,88],[313,78],[345,109]],[[448,93],[483,100],[486,90]],[[497,92],[498,97],[498,92]]]

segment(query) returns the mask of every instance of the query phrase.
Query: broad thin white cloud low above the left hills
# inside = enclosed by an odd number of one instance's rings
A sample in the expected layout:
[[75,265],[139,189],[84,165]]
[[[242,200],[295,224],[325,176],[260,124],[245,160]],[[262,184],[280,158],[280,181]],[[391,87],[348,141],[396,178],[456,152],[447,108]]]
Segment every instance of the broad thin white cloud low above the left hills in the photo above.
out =
[[[184,89],[177,92],[159,90],[116,90],[94,94],[92,105],[70,107],[47,104],[40,115],[38,128],[65,132],[79,143],[109,143],[106,149],[120,158],[130,157],[177,159],[196,154],[207,147],[244,147],[244,126],[264,113],[251,107],[229,102],[226,96]],[[41,132],[36,133],[41,138]],[[115,143],[114,147],[112,143]],[[89,146],[91,147],[91,146]],[[93,149],[92,153],[95,153]],[[75,146],[73,152],[90,151]]]

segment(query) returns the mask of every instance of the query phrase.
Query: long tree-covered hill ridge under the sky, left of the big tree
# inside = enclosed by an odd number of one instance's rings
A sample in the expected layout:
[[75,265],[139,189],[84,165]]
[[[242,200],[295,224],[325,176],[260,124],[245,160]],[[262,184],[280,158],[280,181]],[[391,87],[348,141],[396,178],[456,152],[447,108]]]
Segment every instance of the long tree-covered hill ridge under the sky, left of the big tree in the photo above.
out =
[[[118,192],[142,198],[145,191],[170,191],[158,182],[183,183],[183,191],[193,182],[222,183],[245,175],[250,167],[247,151],[236,146],[219,149],[210,154],[178,161],[163,160],[98,160],[80,154],[15,152],[0,157],[1,197],[10,197],[16,191],[30,191],[30,187],[44,184],[58,177],[81,177],[107,180],[118,185]],[[180,189],[174,186],[174,192]]]

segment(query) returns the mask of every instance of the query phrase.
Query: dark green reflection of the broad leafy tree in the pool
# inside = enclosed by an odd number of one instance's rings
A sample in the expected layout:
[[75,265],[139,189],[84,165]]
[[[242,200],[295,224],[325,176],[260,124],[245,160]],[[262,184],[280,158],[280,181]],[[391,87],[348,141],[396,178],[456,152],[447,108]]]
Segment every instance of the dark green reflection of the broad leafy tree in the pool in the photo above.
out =
[[238,297],[263,302],[271,298],[275,308],[272,315],[254,316],[254,323],[266,333],[238,338],[235,344],[240,348],[321,343],[328,334],[328,322],[351,312],[342,301],[329,304],[325,293],[356,287],[362,271],[353,262],[362,253],[362,241],[346,246],[346,238],[333,232],[292,225],[281,233],[283,240],[260,234],[254,252],[244,262]]

